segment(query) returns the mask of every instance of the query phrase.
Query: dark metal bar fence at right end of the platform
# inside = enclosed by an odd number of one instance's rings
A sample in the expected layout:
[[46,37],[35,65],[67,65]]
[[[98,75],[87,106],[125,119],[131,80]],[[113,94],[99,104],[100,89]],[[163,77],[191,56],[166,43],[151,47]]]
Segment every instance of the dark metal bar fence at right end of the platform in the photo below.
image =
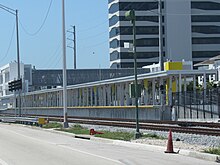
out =
[[172,107],[179,119],[220,118],[220,88],[173,93]]

